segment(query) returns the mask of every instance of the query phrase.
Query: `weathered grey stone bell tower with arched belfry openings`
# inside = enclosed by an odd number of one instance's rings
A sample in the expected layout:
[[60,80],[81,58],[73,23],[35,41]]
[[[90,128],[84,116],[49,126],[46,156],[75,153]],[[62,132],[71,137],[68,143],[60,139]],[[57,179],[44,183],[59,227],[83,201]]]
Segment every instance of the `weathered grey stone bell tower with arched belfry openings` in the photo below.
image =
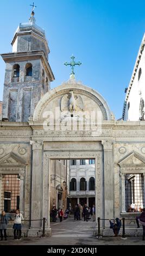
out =
[[55,79],[45,31],[35,24],[34,11],[27,23],[20,23],[11,45],[11,53],[1,54],[6,63],[2,120],[28,121]]

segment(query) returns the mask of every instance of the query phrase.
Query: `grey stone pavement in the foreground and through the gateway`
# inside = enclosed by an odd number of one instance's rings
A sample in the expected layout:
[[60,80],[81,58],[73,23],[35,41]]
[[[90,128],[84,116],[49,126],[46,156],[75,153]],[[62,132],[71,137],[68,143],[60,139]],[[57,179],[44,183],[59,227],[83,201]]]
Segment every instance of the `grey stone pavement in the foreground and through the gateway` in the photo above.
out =
[[22,237],[14,240],[8,237],[7,241],[0,241],[0,245],[145,245],[141,236],[102,237],[94,236],[95,223],[92,221],[74,221],[72,217],[65,221],[51,223],[52,237]]

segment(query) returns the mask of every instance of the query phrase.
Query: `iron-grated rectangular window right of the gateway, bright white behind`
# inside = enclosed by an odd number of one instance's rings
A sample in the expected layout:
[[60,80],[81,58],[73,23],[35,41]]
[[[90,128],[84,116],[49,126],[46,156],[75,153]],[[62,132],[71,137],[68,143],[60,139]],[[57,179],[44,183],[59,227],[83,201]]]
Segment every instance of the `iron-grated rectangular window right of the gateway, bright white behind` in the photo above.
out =
[[143,174],[125,175],[125,209],[127,212],[141,212],[144,206]]

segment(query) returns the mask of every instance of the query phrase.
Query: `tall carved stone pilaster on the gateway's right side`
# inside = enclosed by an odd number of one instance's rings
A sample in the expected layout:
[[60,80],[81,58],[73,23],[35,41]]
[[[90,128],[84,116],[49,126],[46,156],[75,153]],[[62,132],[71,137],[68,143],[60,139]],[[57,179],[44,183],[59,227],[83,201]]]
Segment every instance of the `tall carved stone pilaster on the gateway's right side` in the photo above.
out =
[[104,148],[104,216],[106,219],[110,219],[114,215],[114,169],[112,164],[112,141],[102,141],[102,144]]

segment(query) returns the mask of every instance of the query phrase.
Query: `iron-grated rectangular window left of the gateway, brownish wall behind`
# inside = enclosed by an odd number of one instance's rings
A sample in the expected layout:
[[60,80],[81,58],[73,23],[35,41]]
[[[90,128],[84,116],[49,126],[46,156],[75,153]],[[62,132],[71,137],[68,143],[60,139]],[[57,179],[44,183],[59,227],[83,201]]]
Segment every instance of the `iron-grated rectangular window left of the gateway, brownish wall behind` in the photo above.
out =
[[20,207],[20,179],[17,174],[6,174],[2,178],[1,211],[14,212]]

